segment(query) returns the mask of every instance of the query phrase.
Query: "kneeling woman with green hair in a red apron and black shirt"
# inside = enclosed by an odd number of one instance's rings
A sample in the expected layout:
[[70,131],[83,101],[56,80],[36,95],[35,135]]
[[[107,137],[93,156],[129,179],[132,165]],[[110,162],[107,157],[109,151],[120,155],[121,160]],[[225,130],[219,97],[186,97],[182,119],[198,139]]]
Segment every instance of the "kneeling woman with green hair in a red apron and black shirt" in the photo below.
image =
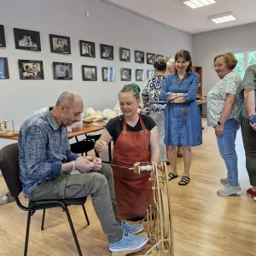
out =
[[108,122],[95,145],[101,153],[113,140],[114,188],[122,219],[144,218],[148,206],[153,204],[150,173],[137,175],[128,168],[136,162],[160,160],[157,126],[151,117],[137,113],[140,103],[140,88],[137,84],[126,84],[119,92],[123,114]]

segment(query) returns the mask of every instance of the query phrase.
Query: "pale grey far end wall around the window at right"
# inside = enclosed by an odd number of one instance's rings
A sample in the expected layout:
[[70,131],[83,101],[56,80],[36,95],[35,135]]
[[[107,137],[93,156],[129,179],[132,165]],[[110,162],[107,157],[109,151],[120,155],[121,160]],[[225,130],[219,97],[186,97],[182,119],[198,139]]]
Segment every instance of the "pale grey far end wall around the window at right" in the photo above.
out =
[[218,82],[213,59],[216,55],[239,49],[256,48],[256,23],[234,26],[193,36],[193,64],[202,67],[203,95]]

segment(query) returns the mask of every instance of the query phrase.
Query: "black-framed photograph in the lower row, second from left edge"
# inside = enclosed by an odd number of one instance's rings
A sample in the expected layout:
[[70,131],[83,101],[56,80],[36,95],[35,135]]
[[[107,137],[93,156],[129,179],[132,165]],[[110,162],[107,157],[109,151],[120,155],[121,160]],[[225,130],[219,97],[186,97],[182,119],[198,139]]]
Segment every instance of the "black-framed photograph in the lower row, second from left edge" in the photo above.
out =
[[43,61],[19,60],[20,79],[44,79]]

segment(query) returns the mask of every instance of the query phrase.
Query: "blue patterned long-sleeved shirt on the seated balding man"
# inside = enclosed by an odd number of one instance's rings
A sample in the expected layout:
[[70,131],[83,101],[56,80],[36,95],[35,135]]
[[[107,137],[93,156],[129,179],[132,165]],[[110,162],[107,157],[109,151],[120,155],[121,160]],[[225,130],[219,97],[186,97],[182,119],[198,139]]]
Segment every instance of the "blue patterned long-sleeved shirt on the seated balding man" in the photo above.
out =
[[20,128],[20,181],[25,196],[44,181],[58,177],[61,163],[79,157],[70,151],[67,127],[57,125],[49,111],[27,119]]

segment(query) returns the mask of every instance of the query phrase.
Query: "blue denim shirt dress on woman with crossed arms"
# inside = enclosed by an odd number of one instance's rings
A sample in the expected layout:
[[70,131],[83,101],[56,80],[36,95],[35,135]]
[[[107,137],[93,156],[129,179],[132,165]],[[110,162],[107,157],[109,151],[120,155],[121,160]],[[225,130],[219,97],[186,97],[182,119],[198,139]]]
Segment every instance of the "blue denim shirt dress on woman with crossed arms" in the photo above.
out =
[[[160,99],[167,101],[165,109],[165,144],[195,147],[202,143],[201,113],[196,103],[199,75],[189,71],[179,84],[177,73],[166,76]],[[169,102],[172,93],[183,93],[184,103]]]

